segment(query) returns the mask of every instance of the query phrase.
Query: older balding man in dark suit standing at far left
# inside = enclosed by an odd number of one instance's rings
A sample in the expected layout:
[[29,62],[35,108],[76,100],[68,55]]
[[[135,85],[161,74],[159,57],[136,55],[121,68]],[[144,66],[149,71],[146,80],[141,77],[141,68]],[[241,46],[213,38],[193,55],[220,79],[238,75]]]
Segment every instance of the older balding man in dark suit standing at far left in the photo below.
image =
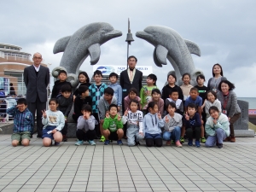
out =
[[33,55],[34,64],[24,69],[24,82],[26,84],[27,108],[33,114],[37,110],[37,131],[38,137],[42,137],[42,111],[46,108],[47,86],[49,84],[49,68],[41,64],[42,55],[35,53]]

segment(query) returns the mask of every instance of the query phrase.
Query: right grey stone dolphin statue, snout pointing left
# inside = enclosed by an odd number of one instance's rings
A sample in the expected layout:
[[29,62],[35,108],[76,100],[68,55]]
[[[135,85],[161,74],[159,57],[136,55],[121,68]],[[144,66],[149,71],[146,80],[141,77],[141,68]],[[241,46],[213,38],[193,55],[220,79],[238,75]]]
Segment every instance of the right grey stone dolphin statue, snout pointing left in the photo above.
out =
[[202,72],[195,70],[190,54],[201,56],[201,50],[197,44],[183,39],[176,31],[166,26],[148,26],[143,32],[137,32],[136,36],[154,45],[153,58],[156,66],[166,65],[166,59],[171,62],[178,79],[177,84],[182,84],[180,79],[183,73],[189,73],[190,84],[196,84],[196,77]]

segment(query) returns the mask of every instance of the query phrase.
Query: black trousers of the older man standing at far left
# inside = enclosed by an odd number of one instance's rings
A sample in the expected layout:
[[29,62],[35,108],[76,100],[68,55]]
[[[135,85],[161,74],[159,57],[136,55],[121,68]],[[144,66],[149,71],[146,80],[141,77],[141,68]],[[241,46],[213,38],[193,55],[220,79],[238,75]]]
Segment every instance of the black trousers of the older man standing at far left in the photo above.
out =
[[44,125],[42,124],[42,111],[46,110],[46,102],[41,102],[39,99],[39,96],[37,96],[36,102],[27,102],[27,108],[32,113],[34,122],[35,122],[35,114],[37,111],[38,137],[42,137],[42,130],[44,127]]

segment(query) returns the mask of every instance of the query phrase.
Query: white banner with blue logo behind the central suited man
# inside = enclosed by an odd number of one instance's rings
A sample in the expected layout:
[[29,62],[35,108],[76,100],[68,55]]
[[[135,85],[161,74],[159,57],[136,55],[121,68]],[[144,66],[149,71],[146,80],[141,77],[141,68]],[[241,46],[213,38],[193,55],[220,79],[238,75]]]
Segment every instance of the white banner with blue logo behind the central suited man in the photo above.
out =
[[[118,75],[126,70],[126,66],[102,66],[102,65],[94,65],[93,71],[96,70],[102,71],[103,75],[109,75],[110,73],[117,73]],[[140,70],[143,73],[143,76],[147,76],[148,74],[152,73],[151,66],[136,66],[137,70]]]

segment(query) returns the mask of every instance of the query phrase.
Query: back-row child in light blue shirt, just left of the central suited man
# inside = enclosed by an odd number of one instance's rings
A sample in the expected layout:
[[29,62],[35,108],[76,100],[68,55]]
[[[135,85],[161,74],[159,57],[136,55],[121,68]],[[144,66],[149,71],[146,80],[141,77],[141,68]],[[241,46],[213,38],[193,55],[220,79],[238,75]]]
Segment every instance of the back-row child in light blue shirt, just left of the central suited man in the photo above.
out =
[[117,73],[110,73],[109,74],[109,81],[111,84],[108,85],[108,87],[111,87],[113,89],[113,96],[115,96],[117,100],[117,105],[119,108],[119,111],[122,108],[122,87],[119,83],[117,83],[119,79],[119,75]]

